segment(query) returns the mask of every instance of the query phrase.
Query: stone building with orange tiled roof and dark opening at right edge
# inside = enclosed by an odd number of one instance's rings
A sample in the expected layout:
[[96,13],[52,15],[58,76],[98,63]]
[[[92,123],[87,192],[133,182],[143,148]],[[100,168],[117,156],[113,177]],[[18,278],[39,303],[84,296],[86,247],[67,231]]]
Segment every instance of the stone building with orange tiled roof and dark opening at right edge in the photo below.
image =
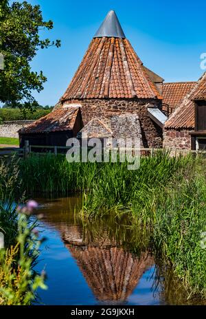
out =
[[[189,93],[165,122],[163,131],[165,148],[181,150],[206,148],[206,73],[196,83],[190,83],[188,89]],[[173,98],[177,95],[173,92]]]

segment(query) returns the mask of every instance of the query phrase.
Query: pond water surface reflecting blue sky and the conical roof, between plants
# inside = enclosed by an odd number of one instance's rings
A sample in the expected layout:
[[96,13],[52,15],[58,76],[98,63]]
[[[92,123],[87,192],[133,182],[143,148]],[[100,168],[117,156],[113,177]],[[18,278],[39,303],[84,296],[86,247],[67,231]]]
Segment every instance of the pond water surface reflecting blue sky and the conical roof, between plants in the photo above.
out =
[[149,234],[119,222],[83,222],[74,211],[81,197],[36,199],[43,214],[39,230],[46,237],[36,270],[45,268],[47,290],[40,305],[183,305],[183,289],[172,271],[163,274],[152,256]]

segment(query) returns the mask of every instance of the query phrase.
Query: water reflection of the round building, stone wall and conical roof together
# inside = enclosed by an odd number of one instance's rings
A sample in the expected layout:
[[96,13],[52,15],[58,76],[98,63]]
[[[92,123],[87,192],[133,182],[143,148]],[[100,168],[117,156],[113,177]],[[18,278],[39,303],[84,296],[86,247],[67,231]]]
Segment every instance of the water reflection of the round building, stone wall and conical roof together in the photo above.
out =
[[100,301],[124,302],[153,263],[147,252],[138,258],[119,247],[106,230],[80,233],[78,226],[60,229],[65,247]]

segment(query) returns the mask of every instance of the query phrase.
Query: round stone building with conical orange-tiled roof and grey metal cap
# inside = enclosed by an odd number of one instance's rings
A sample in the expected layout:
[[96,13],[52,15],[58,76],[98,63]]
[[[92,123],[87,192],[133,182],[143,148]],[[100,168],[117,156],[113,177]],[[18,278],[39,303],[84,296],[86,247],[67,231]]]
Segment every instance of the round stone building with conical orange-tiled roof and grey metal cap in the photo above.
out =
[[[163,78],[144,67],[126,39],[115,12],[110,11],[51,115],[53,122],[56,121],[55,134],[58,134],[57,109],[78,104],[84,131],[88,128],[91,135],[97,131],[95,123],[99,129],[104,127],[102,132],[105,128],[106,132],[111,131],[113,137],[119,137],[120,131],[121,137],[128,137],[129,131],[129,137],[138,137],[145,148],[161,147],[163,123],[167,119],[162,113],[162,91]],[[134,130],[128,126],[128,117],[133,118],[131,122],[137,123]],[[47,118],[42,120],[42,124],[44,133],[47,131]],[[119,131],[120,124],[122,128]],[[38,121],[27,130],[21,130],[21,140],[25,140],[25,134],[30,140],[35,126],[38,126]],[[41,128],[38,136],[41,137]],[[101,137],[104,134],[101,133]],[[65,139],[61,139],[60,143],[65,145]]]

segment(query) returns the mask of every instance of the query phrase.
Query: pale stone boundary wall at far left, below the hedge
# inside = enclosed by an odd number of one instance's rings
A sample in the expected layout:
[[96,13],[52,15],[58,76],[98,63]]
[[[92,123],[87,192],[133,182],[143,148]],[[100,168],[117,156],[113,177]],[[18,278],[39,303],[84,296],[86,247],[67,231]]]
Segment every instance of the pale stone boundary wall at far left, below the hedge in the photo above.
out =
[[19,137],[19,129],[34,121],[12,121],[0,125],[0,137]]

